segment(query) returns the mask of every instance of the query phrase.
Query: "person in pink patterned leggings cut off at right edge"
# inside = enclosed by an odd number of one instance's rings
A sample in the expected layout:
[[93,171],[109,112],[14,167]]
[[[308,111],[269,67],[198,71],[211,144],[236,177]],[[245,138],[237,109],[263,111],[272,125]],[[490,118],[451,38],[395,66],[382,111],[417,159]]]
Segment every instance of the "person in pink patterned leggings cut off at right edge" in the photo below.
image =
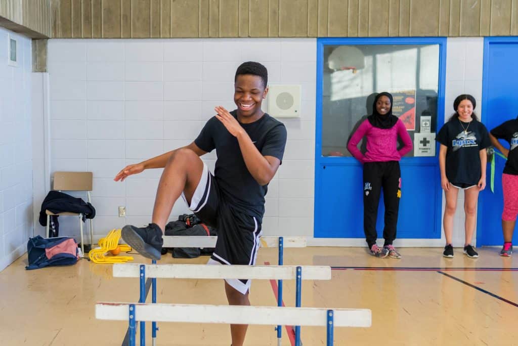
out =
[[[506,121],[491,130],[491,143],[507,157],[502,173],[503,212],[502,231],[503,247],[500,256],[509,257],[513,253],[513,232],[518,214],[518,119]],[[509,142],[509,149],[504,148],[498,139]]]

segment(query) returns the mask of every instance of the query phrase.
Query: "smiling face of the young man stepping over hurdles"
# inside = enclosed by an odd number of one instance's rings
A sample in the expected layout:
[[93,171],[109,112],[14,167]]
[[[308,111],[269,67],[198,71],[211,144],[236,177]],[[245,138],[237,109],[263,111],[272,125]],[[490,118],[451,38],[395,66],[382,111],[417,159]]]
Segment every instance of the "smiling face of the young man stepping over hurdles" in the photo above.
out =
[[242,123],[261,118],[263,99],[268,93],[263,79],[255,75],[238,75],[234,84],[234,102],[237,106],[238,120]]

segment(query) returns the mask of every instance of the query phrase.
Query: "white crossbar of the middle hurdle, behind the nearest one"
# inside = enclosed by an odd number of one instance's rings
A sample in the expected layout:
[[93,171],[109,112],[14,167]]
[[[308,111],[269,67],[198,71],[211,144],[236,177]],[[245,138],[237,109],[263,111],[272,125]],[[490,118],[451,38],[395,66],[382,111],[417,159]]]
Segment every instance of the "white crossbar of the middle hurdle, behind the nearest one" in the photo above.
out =
[[[295,280],[297,266],[218,266],[206,264],[113,264],[113,277],[139,278],[140,266],[145,266],[148,278],[169,279],[259,279]],[[330,280],[331,267],[302,266],[303,280]]]

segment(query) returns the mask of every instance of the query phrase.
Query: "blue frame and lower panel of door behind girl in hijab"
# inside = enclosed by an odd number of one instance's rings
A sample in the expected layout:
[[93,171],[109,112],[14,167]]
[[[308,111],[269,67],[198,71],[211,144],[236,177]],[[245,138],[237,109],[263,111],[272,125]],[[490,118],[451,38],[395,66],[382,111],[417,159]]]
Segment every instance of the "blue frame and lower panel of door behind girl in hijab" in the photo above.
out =
[[[440,128],[444,123],[444,85],[445,85],[445,70],[446,70],[446,42],[447,39],[445,37],[412,37],[412,38],[319,38],[317,39],[317,48],[316,48],[316,123],[315,123],[315,207],[314,207],[314,226],[313,232],[314,237],[325,237],[325,238],[343,238],[344,236],[340,231],[329,231],[332,228],[340,228],[346,227],[347,221],[351,220],[351,218],[359,219],[361,224],[363,225],[363,199],[362,192],[363,189],[359,189],[358,193],[354,192],[354,195],[351,195],[350,198],[354,201],[353,205],[357,207],[356,211],[344,211],[348,212],[347,216],[344,217],[346,224],[336,224],[333,225],[333,222],[322,223],[322,220],[334,220],[333,212],[340,211],[340,209],[335,209],[334,211],[329,211],[329,205],[333,204],[333,200],[329,200],[325,198],[325,191],[329,189],[339,190],[347,184],[362,184],[362,165],[359,164],[354,157],[327,157],[322,156],[322,95],[323,95],[323,63],[324,63],[324,46],[325,45],[439,45],[439,76],[438,76],[438,102],[437,102],[437,128]],[[427,227],[426,232],[419,233],[418,236],[414,236],[412,230],[408,232],[400,233],[398,229],[398,238],[420,238],[420,239],[432,239],[432,238],[440,238],[441,237],[441,211],[442,211],[442,190],[440,186],[440,172],[438,165],[437,155],[439,153],[439,146],[436,143],[436,156],[435,157],[408,157],[403,158],[401,160],[401,171],[402,176],[407,176],[405,179],[409,178],[409,176],[419,175],[419,169],[425,168],[427,169],[427,173],[429,177],[431,177],[432,181],[428,183],[433,183],[431,188],[427,191],[427,195],[430,196],[430,200],[433,200],[434,203],[432,205],[428,205],[429,217],[430,220],[433,220],[433,225],[424,225]],[[349,166],[351,169],[350,175],[348,177],[343,177],[342,181],[336,181],[336,184],[333,182],[327,182],[323,179],[323,170],[322,168],[326,168],[328,166],[327,172],[329,170],[336,169],[339,166]],[[432,167],[436,167],[437,169],[432,169]],[[407,171],[407,174],[405,174]],[[423,169],[424,171],[424,169]],[[408,172],[415,172],[414,174],[409,174]],[[336,175],[335,175],[336,176]],[[414,179],[416,177],[412,177],[414,180],[411,184],[403,183],[404,186],[412,186],[413,190],[418,189],[419,186],[422,186],[422,181],[418,181],[418,179]],[[419,178],[419,177],[417,177]],[[345,180],[345,181],[343,181]],[[358,180],[358,181],[356,181]],[[408,179],[407,179],[408,181]],[[345,184],[345,185],[344,185]],[[426,184],[426,183],[424,183]],[[404,188],[405,189],[405,188]],[[412,189],[411,189],[412,190]],[[405,193],[419,193],[419,191],[405,191]],[[423,196],[426,199],[426,196]],[[402,197],[401,203],[404,202],[405,196]],[[360,208],[361,206],[361,208]],[[406,207],[408,209],[408,206]],[[415,208],[415,206],[414,206]],[[345,208],[344,208],[345,209]],[[362,213],[359,213],[358,210],[362,210]],[[380,209],[382,209],[382,203],[380,205]],[[402,211],[402,210],[400,210]],[[400,212],[399,219],[405,217],[405,215],[410,215],[412,217],[412,213],[410,212]],[[342,220],[342,221],[344,221]],[[400,222],[398,222],[399,224]],[[382,228],[382,222],[378,222],[378,232],[380,233],[380,227]],[[363,226],[361,229],[355,230],[355,234],[353,236],[347,236],[347,238],[363,238]]]

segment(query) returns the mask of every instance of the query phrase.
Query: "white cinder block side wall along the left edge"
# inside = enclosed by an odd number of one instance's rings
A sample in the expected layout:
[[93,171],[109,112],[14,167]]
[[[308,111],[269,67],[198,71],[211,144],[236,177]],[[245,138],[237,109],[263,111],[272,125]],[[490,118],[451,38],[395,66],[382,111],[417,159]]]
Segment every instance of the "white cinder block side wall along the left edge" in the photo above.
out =
[[[8,36],[18,65],[8,65]],[[33,235],[31,39],[0,27],[0,270],[26,251]]]

